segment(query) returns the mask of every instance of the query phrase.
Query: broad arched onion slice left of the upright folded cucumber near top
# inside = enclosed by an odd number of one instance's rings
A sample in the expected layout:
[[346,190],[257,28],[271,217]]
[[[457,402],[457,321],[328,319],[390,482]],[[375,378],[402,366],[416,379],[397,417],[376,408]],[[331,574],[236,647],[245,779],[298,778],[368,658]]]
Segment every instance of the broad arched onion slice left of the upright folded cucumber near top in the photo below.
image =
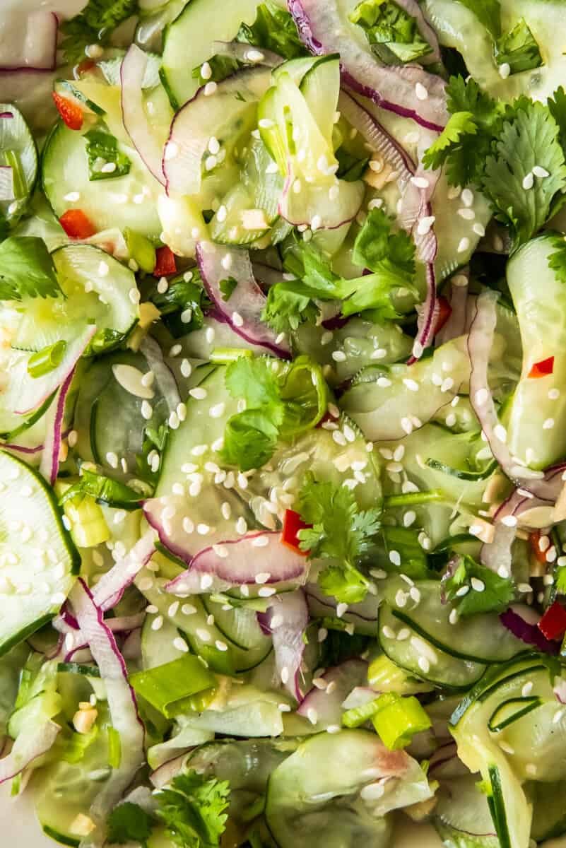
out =
[[199,88],[175,114],[163,159],[168,194],[200,192],[208,142],[221,137],[223,127],[249,112],[268,90],[270,79],[269,68],[238,71],[218,85],[208,83]]

